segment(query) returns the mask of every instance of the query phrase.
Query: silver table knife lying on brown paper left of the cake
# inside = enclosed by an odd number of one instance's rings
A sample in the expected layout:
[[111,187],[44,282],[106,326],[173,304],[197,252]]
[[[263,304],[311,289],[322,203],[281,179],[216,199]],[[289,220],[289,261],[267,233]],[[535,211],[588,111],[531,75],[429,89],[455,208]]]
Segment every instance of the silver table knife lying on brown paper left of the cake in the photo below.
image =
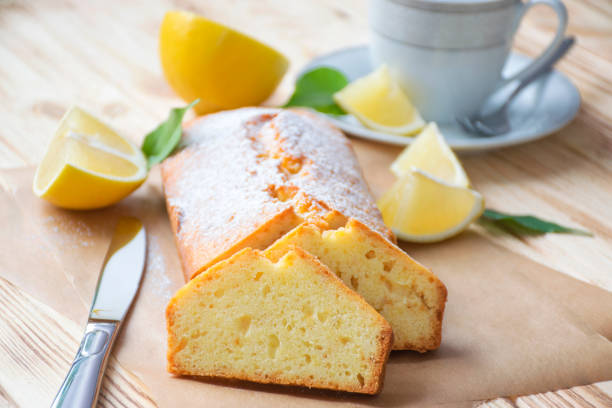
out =
[[102,265],[83,340],[52,408],[95,406],[110,350],[140,286],[146,246],[142,222],[121,217]]

